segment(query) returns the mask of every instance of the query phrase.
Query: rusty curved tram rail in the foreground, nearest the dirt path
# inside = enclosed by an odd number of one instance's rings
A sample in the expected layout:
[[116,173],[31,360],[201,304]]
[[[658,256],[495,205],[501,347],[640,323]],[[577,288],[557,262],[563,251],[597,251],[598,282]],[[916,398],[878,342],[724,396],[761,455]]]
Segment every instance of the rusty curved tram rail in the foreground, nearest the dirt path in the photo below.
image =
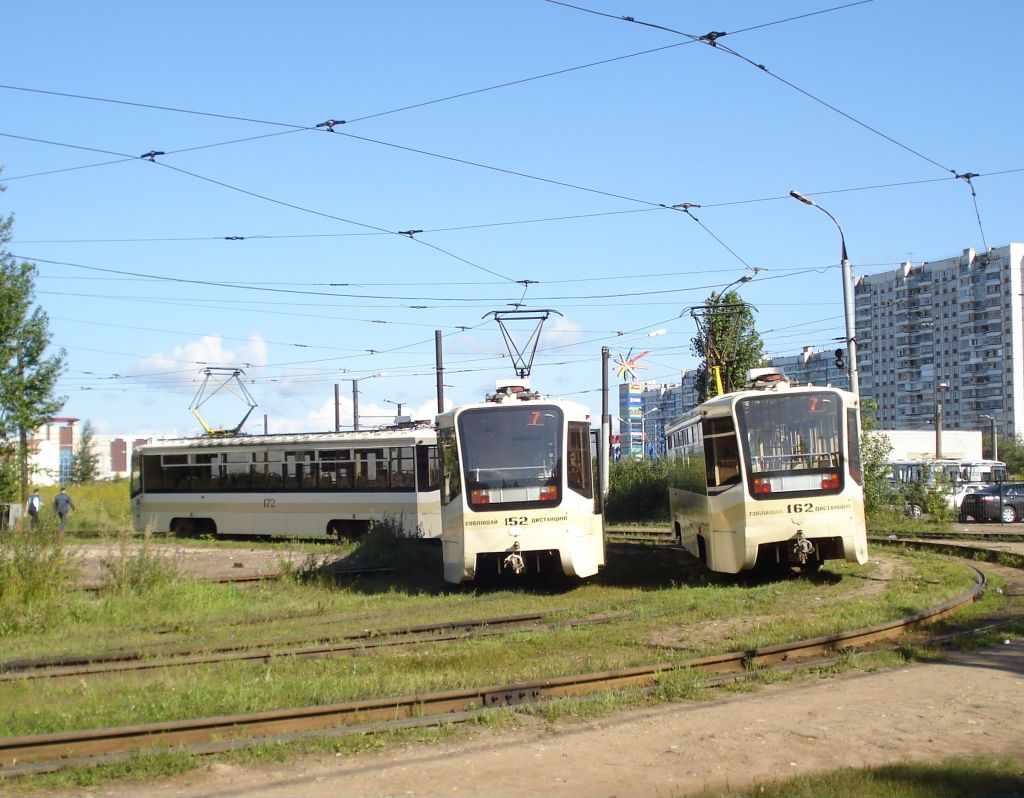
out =
[[985,589],[985,576],[974,565],[975,585],[939,606],[905,618],[854,631],[840,632],[781,645],[703,657],[682,663],[583,673],[505,685],[468,687],[427,695],[369,699],[298,709],[222,715],[132,726],[62,731],[0,739],[0,775],[24,774],[121,759],[136,752],[171,751],[188,747],[196,753],[215,753],[273,740],[327,733],[369,733],[380,724],[442,724],[474,717],[497,707],[582,697],[626,687],[648,687],[664,675],[697,671],[718,677],[742,674],[753,668],[782,664],[843,652],[898,637],[908,629],[939,620],[976,600]]

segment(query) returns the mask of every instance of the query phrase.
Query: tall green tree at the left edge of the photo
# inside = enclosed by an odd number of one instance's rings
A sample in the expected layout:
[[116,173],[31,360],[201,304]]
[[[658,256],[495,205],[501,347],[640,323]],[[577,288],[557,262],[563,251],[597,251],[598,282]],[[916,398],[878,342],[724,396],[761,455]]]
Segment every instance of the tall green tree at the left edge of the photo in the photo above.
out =
[[54,389],[66,353],[46,353],[49,318],[35,304],[35,265],[7,250],[13,226],[12,215],[0,218],[0,438],[16,438],[24,503],[29,495],[29,433],[63,406]]

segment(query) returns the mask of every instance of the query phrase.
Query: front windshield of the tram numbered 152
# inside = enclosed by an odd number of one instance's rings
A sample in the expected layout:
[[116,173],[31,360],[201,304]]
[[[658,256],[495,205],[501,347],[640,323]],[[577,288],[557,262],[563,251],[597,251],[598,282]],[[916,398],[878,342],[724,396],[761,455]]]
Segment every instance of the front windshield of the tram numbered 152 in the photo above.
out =
[[467,499],[474,510],[561,501],[562,422],[554,405],[476,408],[459,416]]

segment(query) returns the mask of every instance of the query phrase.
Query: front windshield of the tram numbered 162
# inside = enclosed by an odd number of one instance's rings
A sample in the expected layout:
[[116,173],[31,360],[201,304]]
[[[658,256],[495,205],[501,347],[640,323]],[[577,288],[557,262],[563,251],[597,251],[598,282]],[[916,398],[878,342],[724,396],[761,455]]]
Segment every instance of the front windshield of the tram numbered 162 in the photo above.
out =
[[736,403],[748,484],[755,498],[842,490],[842,411],[839,395],[826,391]]

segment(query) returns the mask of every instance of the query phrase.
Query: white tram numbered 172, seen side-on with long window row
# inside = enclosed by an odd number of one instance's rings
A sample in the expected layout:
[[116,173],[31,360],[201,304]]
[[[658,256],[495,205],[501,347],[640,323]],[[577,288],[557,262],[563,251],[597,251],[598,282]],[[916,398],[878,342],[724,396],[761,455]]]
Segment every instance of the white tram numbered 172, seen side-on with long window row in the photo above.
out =
[[132,458],[137,531],[352,537],[390,520],[440,537],[436,434],[367,432],[157,440]]

